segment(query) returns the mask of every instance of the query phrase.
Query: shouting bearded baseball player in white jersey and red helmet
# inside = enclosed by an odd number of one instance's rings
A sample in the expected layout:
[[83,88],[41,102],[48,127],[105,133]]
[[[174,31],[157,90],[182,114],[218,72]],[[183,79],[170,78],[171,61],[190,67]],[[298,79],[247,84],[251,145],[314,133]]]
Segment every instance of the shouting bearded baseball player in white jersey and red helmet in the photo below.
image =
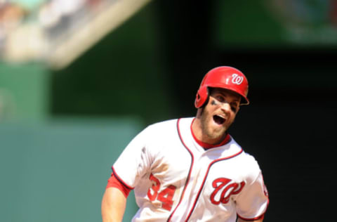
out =
[[216,67],[201,81],[196,117],[152,124],[133,138],[112,166],[103,221],[122,221],[133,189],[133,221],[263,221],[260,167],[227,133],[247,93],[242,72]]

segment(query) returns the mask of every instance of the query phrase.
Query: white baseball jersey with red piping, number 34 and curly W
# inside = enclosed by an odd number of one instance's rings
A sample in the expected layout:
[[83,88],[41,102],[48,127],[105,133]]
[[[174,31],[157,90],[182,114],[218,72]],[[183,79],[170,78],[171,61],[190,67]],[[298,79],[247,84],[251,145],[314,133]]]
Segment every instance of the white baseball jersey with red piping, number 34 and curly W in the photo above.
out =
[[205,150],[193,138],[193,118],[152,124],[112,166],[135,189],[133,221],[236,221],[265,213],[268,204],[256,160],[232,137]]

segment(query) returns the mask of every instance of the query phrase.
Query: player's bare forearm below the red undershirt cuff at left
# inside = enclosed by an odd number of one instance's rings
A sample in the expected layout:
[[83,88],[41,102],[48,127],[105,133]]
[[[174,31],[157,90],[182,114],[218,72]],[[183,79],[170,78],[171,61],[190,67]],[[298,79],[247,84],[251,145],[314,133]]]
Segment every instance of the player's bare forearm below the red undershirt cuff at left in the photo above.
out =
[[126,197],[117,188],[107,188],[102,200],[103,222],[121,222],[126,207]]

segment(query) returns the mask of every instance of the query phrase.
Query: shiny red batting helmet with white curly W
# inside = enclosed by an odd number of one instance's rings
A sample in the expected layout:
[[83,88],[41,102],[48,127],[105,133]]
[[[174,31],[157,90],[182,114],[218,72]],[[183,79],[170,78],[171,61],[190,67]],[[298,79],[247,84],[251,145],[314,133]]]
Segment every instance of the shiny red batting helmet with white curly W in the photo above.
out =
[[248,80],[244,74],[229,66],[215,67],[202,79],[194,105],[199,108],[209,98],[208,87],[228,89],[242,96],[241,105],[248,105]]

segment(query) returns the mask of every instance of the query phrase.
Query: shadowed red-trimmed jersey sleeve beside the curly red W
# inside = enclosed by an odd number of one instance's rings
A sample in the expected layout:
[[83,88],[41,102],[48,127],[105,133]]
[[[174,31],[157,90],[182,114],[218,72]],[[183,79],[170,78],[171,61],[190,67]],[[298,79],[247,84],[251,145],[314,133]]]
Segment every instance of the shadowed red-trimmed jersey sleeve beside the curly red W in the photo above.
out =
[[239,218],[253,221],[263,217],[267,210],[269,199],[261,172],[254,181],[246,184],[237,197],[236,203]]

